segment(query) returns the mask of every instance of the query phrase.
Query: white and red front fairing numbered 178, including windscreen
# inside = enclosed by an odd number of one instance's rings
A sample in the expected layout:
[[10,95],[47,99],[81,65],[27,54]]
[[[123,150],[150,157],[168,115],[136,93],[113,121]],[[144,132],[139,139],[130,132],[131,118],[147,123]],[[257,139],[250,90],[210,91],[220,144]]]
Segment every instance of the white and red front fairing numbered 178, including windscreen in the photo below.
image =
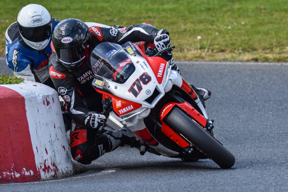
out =
[[[108,42],[97,45],[91,54],[95,75],[92,85],[97,91],[100,90],[98,92],[110,95],[120,92],[123,99],[153,108],[165,94],[162,82],[167,78],[167,62],[159,57],[146,57],[138,49],[131,42],[124,45]],[[116,58],[117,55],[121,59]],[[173,78],[177,77],[174,75]],[[177,83],[182,84],[180,81]]]

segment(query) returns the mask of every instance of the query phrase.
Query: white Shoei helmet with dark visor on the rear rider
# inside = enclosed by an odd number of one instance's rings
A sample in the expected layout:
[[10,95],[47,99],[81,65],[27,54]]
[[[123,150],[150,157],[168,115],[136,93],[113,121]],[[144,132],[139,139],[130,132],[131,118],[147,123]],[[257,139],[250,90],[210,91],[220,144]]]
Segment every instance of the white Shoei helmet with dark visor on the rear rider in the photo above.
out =
[[27,45],[36,50],[46,48],[52,35],[52,18],[45,7],[26,5],[19,11],[17,22],[20,35]]

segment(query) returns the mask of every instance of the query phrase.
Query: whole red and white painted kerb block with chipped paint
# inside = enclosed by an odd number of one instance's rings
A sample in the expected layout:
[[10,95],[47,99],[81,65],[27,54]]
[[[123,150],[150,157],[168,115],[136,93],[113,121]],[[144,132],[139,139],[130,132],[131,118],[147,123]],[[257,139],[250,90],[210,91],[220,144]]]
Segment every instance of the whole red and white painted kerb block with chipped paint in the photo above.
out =
[[41,83],[0,85],[0,184],[73,175],[57,92]]

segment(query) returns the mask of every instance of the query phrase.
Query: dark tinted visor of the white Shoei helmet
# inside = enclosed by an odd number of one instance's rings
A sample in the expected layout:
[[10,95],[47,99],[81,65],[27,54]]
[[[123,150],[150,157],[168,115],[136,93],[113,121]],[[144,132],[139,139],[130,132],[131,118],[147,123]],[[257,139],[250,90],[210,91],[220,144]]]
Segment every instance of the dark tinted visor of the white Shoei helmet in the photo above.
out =
[[20,33],[28,41],[41,42],[50,39],[52,35],[52,23],[39,27],[23,27],[18,24]]

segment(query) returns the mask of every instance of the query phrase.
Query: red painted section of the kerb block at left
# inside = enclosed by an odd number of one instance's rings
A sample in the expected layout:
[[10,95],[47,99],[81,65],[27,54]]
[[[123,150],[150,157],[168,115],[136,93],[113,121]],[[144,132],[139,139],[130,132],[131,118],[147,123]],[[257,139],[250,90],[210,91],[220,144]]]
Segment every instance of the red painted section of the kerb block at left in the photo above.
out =
[[0,183],[40,180],[24,97],[0,86],[0,109]]

